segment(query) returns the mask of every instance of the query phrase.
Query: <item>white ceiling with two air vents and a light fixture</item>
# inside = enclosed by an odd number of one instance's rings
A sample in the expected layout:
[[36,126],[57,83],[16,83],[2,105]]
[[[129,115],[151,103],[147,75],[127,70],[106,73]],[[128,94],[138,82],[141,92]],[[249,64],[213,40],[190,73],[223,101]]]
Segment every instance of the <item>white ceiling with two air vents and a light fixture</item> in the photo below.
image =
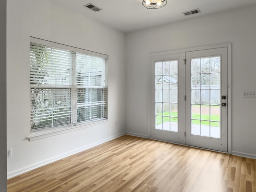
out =
[[[132,32],[152,26],[158,26],[256,4],[256,0],[167,0],[167,5],[158,10],[148,10],[142,6],[142,0],[53,0],[84,17],[98,20],[122,32]],[[102,8],[94,12],[83,5],[92,3]],[[199,8],[200,13],[184,16],[182,12]]]

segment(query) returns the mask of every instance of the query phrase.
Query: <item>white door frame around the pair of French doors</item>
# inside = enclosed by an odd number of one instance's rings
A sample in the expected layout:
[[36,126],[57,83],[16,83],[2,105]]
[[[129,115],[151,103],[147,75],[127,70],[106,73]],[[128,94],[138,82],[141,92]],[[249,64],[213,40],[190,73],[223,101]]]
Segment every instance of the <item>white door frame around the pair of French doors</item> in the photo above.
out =
[[[149,54],[149,64],[150,64],[150,99],[148,100],[148,138],[151,136],[151,127],[152,120],[151,120],[151,111],[152,111],[152,68],[151,68],[151,62],[153,58],[156,56],[164,56],[164,55],[170,55],[170,54],[177,54],[177,53],[184,53],[185,52],[191,52],[191,51],[199,51],[199,50],[207,50],[207,49],[214,49],[214,48],[228,48],[228,154],[231,154],[232,151],[232,43],[226,43],[226,44],[218,44],[218,45],[212,45],[212,46],[202,46],[202,47],[196,47],[196,48],[188,48],[188,49],[182,49],[182,50],[174,50],[174,51],[167,51],[167,52],[157,52],[157,53],[150,53]],[[185,95],[184,95],[185,96]]]

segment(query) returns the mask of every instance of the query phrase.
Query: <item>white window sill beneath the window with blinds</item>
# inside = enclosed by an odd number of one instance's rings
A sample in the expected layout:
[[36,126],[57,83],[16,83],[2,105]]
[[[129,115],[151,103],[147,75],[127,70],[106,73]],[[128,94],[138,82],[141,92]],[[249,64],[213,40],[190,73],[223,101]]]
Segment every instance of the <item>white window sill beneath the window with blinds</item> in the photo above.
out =
[[88,127],[92,127],[92,126],[97,126],[100,124],[105,124],[107,122],[108,122],[108,119],[101,120],[98,122],[79,124],[79,125],[65,127],[65,128],[55,128],[55,129],[51,129],[51,130],[49,130],[49,129],[48,130],[38,130],[36,132],[30,132],[30,134],[27,138],[29,141],[34,141],[34,140],[38,140],[38,139],[42,139],[42,138],[47,138],[47,137],[51,137],[51,136],[55,136],[55,135],[59,135],[59,134],[68,133],[71,131],[76,131],[76,130],[80,130],[80,129],[84,129],[84,128],[88,128]]

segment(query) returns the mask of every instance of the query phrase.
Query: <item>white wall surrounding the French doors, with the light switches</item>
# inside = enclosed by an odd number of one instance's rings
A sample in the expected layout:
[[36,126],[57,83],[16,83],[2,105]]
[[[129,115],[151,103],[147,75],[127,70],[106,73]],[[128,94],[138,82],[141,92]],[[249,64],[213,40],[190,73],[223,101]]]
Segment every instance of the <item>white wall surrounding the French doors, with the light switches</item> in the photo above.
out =
[[256,158],[256,6],[126,34],[126,132],[148,136],[149,53],[232,43],[232,153]]

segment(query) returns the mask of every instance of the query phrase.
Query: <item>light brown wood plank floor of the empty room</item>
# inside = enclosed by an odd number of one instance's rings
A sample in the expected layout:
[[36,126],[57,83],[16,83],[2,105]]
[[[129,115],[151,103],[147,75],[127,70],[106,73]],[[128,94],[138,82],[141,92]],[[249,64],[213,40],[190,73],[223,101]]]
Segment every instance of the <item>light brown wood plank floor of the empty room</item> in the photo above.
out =
[[122,136],[8,180],[8,192],[256,192],[256,160]]

